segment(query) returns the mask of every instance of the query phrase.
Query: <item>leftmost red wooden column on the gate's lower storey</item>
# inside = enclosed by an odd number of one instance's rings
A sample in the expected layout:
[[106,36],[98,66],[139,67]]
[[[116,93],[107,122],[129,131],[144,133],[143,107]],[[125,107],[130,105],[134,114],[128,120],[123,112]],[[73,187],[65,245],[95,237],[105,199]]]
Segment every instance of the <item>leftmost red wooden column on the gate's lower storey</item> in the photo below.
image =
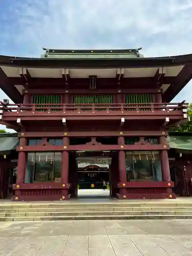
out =
[[[27,138],[20,138],[19,147],[27,145]],[[25,183],[25,170],[27,164],[27,152],[19,151],[17,162],[16,183]]]

